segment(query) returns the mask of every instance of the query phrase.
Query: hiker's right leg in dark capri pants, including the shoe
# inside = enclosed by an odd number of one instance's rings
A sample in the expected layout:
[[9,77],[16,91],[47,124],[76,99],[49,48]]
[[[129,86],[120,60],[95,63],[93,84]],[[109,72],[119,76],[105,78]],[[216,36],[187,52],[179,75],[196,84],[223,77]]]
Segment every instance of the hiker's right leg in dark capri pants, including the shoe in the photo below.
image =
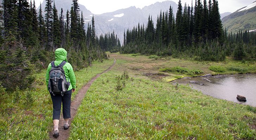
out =
[[69,90],[69,91],[66,91],[64,96],[62,97],[63,118],[65,122],[64,129],[68,129],[69,118],[71,118],[71,115],[70,115],[71,94],[72,94],[72,90]]

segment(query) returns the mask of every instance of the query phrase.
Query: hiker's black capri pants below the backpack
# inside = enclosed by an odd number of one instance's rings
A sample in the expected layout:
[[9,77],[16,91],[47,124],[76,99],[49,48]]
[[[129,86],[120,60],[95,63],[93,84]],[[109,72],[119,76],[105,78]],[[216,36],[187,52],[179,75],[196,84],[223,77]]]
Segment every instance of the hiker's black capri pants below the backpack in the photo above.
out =
[[[51,93],[50,93],[51,94]],[[62,103],[62,111],[63,111],[63,118],[68,119],[71,118],[70,115],[70,105],[71,105],[71,94],[72,90],[66,91],[63,96],[61,94],[51,94],[52,98],[52,108],[53,108],[53,114],[52,119],[53,120],[59,120],[60,118],[60,110],[61,110],[61,103]]]

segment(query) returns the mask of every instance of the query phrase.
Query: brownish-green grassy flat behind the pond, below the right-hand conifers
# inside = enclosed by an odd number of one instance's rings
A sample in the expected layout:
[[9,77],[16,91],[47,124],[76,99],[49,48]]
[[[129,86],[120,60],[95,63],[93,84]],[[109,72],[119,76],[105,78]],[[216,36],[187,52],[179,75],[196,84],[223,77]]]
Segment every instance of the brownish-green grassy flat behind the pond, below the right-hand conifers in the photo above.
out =
[[[206,74],[236,74],[236,73],[256,73],[256,62],[254,61],[233,61],[227,57],[223,62],[194,61],[191,59],[178,59],[172,57],[142,56],[139,54],[108,53],[111,57],[122,60],[120,69],[127,69],[131,75],[138,78],[163,79],[170,82],[175,79]],[[179,67],[176,71],[163,71],[164,69],[173,69]],[[211,67],[221,67],[219,69],[209,69]],[[188,72],[181,72],[187,69]],[[213,71],[214,70],[214,71]],[[192,74],[191,74],[192,73]]]

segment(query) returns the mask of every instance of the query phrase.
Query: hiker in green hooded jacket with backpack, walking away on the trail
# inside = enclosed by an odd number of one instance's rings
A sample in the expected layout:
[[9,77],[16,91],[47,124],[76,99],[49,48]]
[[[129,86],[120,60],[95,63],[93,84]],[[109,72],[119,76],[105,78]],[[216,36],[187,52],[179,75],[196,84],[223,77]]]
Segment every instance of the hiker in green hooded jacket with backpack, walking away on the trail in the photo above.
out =
[[71,118],[71,93],[76,89],[76,77],[71,64],[67,62],[67,51],[65,49],[58,48],[55,50],[55,61],[49,64],[46,71],[46,84],[53,104],[53,137],[57,138],[59,136],[61,104],[65,122],[64,130],[67,130],[69,128],[69,118]]

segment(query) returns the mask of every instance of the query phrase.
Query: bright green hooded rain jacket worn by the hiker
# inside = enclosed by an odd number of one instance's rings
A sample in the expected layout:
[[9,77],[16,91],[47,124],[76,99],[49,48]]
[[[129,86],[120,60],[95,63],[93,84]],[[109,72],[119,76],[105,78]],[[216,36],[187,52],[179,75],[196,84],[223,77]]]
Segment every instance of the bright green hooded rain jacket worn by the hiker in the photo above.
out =
[[[67,61],[67,54],[68,52],[63,48],[58,48],[55,50],[55,61],[54,64],[57,66],[63,61],[66,61],[67,63],[63,66],[63,69],[65,71],[66,80],[69,81],[71,84],[69,86],[68,90],[75,89],[76,88],[76,77],[75,73],[73,71],[73,68],[70,63]],[[46,85],[48,89],[48,81],[49,81],[49,72],[52,68],[51,63],[48,65],[47,71],[46,71]]]

